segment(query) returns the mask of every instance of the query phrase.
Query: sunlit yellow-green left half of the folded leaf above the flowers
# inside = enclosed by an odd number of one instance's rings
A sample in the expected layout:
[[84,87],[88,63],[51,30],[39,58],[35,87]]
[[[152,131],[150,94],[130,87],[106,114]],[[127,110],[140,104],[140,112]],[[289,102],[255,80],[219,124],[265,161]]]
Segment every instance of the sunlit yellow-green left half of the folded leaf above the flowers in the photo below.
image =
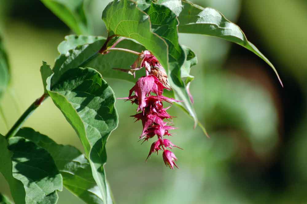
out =
[[102,19],[109,31],[108,36],[120,35],[137,40],[154,53],[163,67],[168,68],[167,44],[151,32],[149,16],[137,9],[134,2],[113,1],[103,10]]

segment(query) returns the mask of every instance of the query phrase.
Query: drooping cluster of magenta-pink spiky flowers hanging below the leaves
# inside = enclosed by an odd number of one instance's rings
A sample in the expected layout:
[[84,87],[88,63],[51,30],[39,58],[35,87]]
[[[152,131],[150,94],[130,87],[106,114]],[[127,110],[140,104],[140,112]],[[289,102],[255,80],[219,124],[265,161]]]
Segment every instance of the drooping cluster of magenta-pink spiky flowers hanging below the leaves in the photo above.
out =
[[170,106],[164,108],[162,102],[172,104],[173,102],[180,101],[162,95],[164,89],[170,90],[167,75],[157,58],[148,50],[143,51],[139,55],[138,59],[131,66],[129,73],[135,75],[135,71],[142,67],[146,69],[146,76],[138,79],[134,87],[129,91],[129,97],[121,99],[129,100],[131,103],[138,105],[138,113],[132,117],[134,117],[136,121],[142,121],[143,130],[140,135],[140,140],[147,141],[157,135],[157,140],[151,145],[147,159],[152,153],[158,154],[161,150],[163,151],[162,157],[165,165],[174,169],[174,166],[177,167],[175,164],[177,158],[174,153],[167,148],[172,149],[172,147],[180,147],[164,138],[164,136],[171,135],[169,130],[176,128],[171,125],[173,116],[170,116],[166,112]]

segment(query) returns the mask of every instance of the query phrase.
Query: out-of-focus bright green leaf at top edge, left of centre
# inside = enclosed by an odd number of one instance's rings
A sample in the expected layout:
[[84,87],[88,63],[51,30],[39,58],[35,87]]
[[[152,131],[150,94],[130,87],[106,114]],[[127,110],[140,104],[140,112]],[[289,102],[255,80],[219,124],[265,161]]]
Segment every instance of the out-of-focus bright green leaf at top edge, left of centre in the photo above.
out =
[[84,0],[41,0],[54,14],[77,34],[91,34],[84,12]]

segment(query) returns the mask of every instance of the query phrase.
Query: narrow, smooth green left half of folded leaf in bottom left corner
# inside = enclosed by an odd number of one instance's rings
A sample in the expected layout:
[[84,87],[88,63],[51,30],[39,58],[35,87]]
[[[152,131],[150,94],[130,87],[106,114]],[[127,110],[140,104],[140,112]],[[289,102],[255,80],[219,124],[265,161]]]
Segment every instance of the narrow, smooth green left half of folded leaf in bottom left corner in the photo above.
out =
[[8,149],[8,146],[9,143],[6,141],[5,137],[0,134],[0,172],[9,183],[14,202],[16,204],[25,204],[25,189],[21,181],[13,177],[11,159],[13,152]]

